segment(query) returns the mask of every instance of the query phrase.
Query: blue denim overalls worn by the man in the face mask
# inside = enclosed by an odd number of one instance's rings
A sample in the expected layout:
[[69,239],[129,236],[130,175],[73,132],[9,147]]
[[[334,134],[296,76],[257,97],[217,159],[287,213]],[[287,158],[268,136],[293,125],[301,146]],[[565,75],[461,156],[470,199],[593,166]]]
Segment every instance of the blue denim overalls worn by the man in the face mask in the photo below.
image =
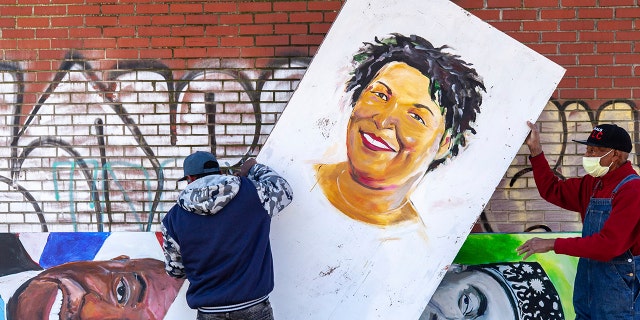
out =
[[[611,212],[611,200],[623,184],[633,179],[640,179],[640,176],[631,174],[624,178],[613,190],[611,198],[591,197],[584,218],[583,237],[602,229]],[[573,289],[576,320],[640,320],[638,271],[640,256],[634,257],[631,250],[608,262],[580,258]]]

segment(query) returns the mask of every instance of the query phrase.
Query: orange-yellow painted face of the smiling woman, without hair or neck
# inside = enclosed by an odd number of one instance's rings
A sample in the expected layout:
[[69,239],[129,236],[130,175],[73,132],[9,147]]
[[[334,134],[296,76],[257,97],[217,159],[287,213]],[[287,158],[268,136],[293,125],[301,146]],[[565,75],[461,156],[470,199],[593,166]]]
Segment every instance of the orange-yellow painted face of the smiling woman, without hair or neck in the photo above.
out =
[[360,184],[396,188],[426,172],[445,130],[429,84],[417,69],[392,62],[362,91],[347,131],[347,156]]

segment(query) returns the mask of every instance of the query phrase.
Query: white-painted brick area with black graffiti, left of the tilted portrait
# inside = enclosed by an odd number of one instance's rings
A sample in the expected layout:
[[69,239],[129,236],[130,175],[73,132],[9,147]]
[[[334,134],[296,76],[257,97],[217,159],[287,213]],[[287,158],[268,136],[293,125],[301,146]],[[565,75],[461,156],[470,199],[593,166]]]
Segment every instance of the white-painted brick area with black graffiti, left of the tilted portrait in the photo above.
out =
[[99,72],[73,51],[29,104],[29,73],[0,62],[4,211],[32,231],[149,231],[175,197],[182,158],[207,150],[234,167],[255,156],[307,65],[290,58],[237,71],[203,63],[176,79],[157,61]]

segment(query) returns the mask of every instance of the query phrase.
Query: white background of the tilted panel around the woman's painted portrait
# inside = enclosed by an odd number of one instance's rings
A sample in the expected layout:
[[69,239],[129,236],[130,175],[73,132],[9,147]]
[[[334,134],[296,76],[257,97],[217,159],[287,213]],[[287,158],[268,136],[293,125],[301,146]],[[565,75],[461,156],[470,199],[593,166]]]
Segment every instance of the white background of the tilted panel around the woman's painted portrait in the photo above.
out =
[[[486,92],[476,134],[410,192],[418,221],[368,223],[332,204],[317,168],[348,160],[353,55],[394,33],[448,46]],[[348,0],[258,156],[294,190],[272,225],[276,318],[418,319],[563,74],[450,1]]]

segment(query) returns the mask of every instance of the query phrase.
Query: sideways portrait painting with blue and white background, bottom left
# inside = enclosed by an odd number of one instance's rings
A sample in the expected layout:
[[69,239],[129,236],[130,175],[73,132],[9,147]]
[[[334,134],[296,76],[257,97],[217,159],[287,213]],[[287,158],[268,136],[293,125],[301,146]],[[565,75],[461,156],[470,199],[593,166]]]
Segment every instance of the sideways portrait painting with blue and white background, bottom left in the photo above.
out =
[[156,233],[0,234],[0,319],[188,319]]

